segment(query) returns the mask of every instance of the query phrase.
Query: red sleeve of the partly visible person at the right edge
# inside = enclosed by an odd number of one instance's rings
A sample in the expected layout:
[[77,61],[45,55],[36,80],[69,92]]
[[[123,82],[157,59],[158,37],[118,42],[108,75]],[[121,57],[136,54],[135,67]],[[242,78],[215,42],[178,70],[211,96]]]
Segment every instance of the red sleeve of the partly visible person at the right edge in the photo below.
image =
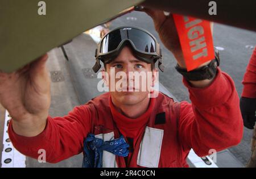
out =
[[256,47],[249,64],[247,65],[245,76],[243,76],[242,97],[256,98]]

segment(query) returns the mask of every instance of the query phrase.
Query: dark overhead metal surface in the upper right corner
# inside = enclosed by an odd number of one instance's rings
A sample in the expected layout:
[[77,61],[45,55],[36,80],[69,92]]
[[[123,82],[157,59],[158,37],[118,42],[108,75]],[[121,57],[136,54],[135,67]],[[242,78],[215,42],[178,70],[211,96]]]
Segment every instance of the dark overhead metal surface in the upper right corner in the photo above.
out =
[[214,0],[217,3],[217,15],[209,15],[209,2],[209,0],[146,0],[143,6],[256,31],[255,0]]

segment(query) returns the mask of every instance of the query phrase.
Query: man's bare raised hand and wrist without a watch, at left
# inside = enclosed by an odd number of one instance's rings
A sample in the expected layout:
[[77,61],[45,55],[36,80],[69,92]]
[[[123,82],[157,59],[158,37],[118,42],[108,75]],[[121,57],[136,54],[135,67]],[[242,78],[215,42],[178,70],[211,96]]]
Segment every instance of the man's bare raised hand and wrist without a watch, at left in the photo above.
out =
[[51,103],[47,54],[13,73],[0,72],[0,103],[18,135],[36,136],[46,127]]

